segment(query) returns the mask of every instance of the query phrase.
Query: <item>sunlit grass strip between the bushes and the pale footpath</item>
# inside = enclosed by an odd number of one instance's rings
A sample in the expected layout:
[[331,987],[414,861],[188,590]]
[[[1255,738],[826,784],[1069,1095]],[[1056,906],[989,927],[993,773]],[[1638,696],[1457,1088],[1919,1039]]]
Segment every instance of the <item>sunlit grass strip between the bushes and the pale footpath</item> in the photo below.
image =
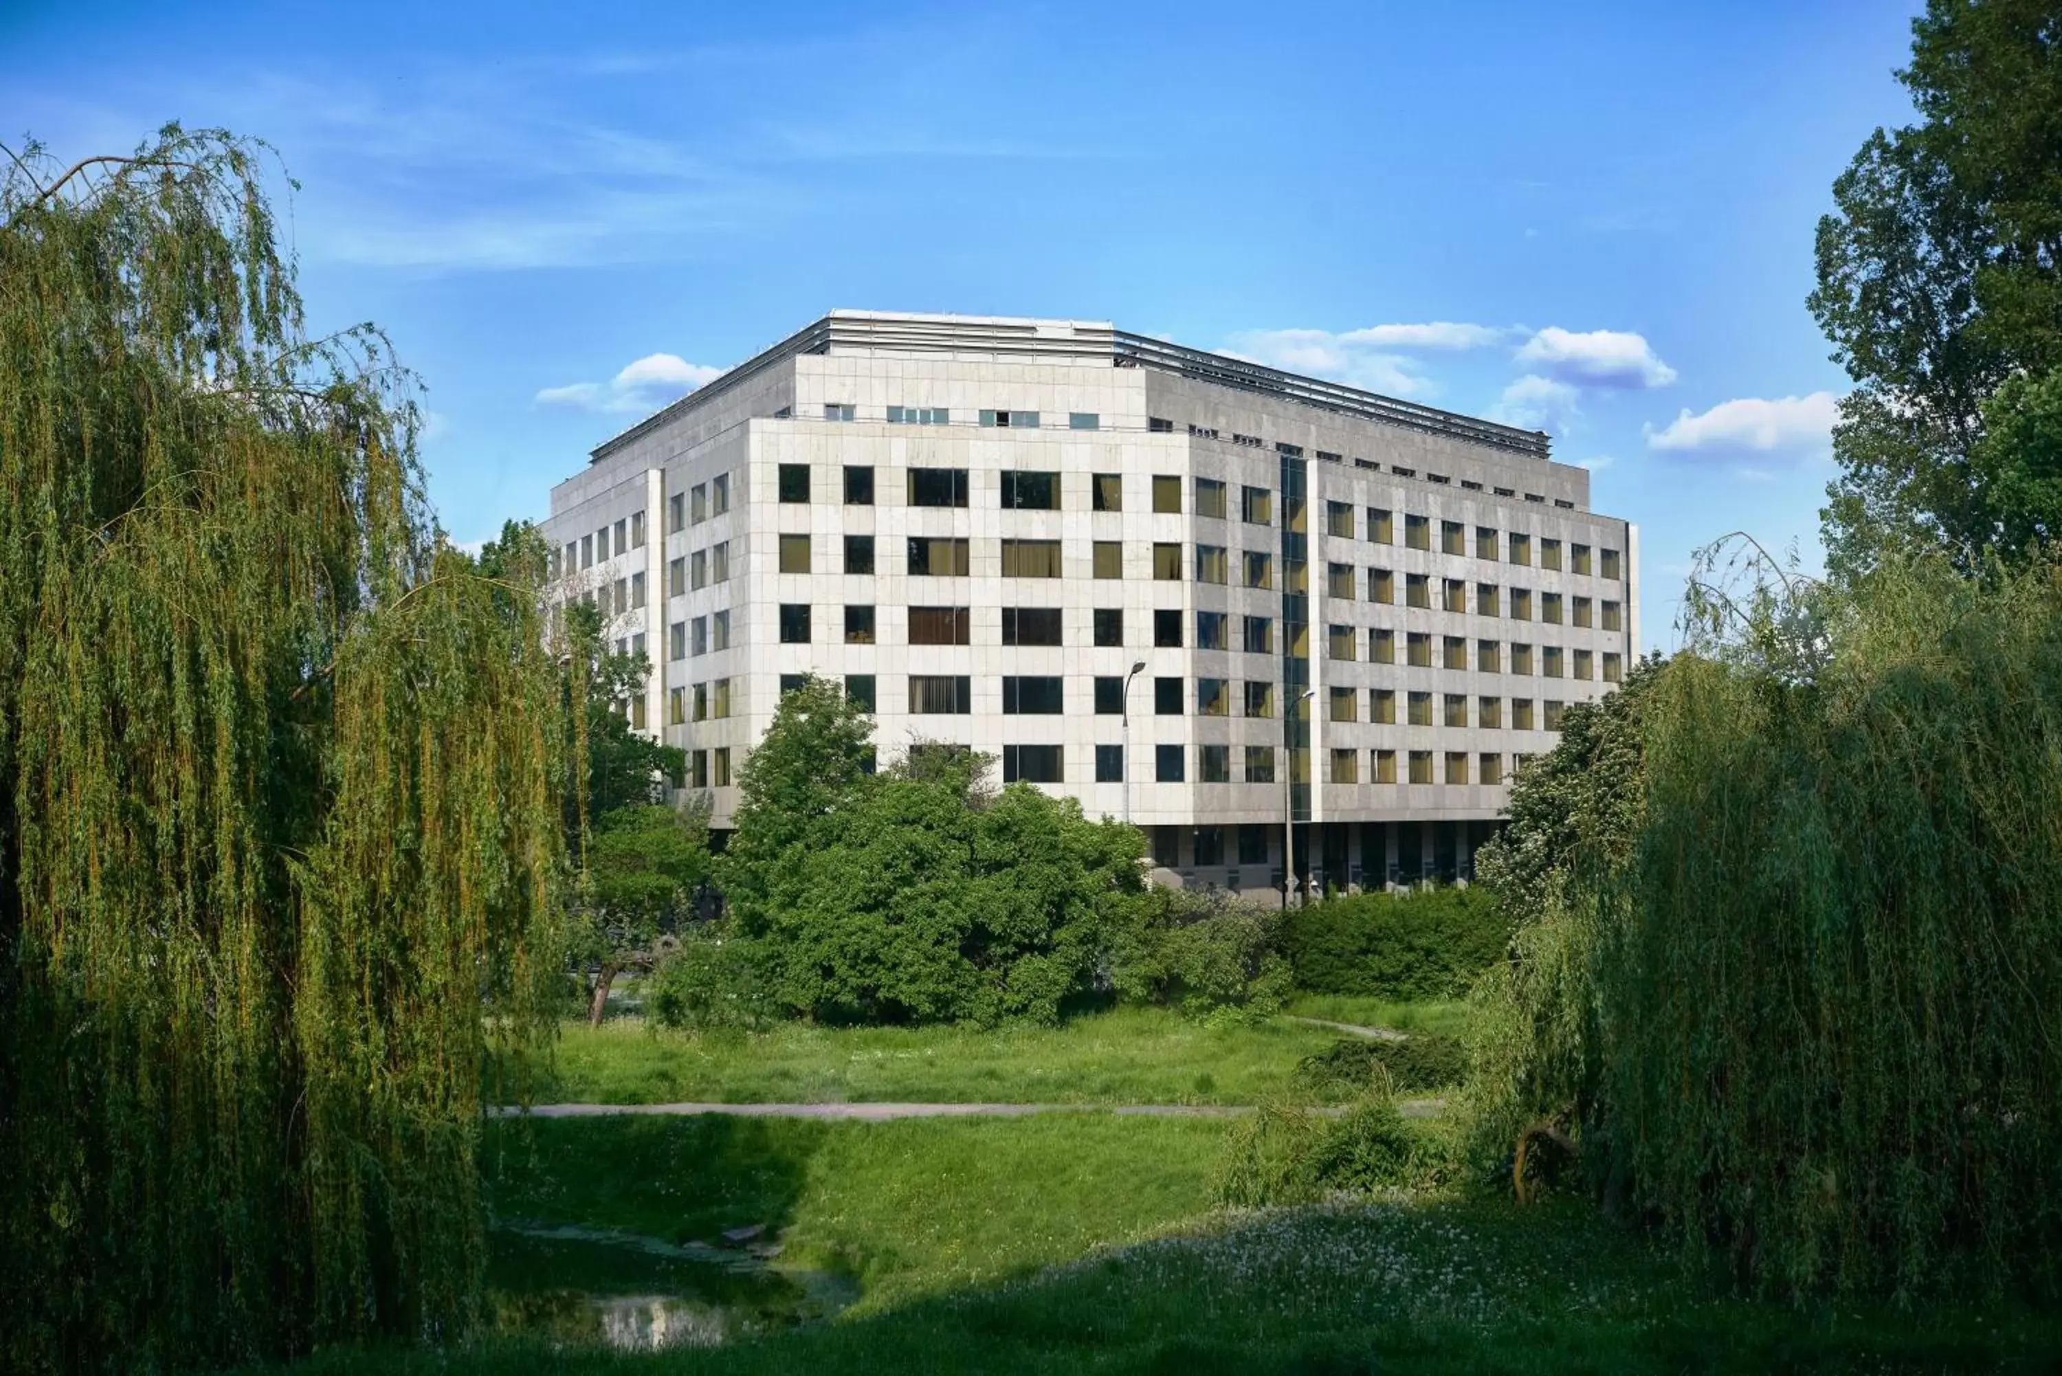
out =
[[1206,1027],[1113,1009],[1060,1027],[812,1027],[668,1034],[567,1023],[538,1102],[1256,1104],[1336,1034],[1285,1019]]

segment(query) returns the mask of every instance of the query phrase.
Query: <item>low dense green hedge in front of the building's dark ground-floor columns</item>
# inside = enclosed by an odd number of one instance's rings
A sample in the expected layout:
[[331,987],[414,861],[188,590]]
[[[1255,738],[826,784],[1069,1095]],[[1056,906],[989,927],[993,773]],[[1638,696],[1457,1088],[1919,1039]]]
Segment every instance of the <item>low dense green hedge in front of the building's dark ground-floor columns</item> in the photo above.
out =
[[1289,912],[1297,988],[1373,998],[1460,998],[1503,959],[1511,922],[1487,889],[1359,893]]

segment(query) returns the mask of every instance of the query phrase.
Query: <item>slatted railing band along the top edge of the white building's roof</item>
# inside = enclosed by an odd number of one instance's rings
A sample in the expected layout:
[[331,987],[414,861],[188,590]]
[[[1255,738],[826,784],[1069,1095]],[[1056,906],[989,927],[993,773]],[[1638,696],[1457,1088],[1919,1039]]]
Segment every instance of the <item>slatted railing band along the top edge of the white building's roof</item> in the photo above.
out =
[[703,402],[730,392],[777,363],[804,353],[994,353],[1010,357],[1072,357],[1109,359],[1113,367],[1151,367],[1155,371],[1192,378],[1241,392],[1281,396],[1303,406],[1338,415],[1398,425],[1468,444],[1549,458],[1551,441],[1540,431],[1481,421],[1437,406],[1423,406],[1379,392],[1363,392],[1340,382],[1303,378],[1262,363],[1233,359],[1204,349],[1171,345],[1146,334],[1130,334],[1107,320],[1035,320],[1021,316],[924,316],[905,312],[833,309],[829,316],[796,330],[781,342],[753,355],[713,382],[707,382],[676,402],[660,408],[629,429],[598,444],[590,462],[600,462],[652,433],[660,425],[687,415]]

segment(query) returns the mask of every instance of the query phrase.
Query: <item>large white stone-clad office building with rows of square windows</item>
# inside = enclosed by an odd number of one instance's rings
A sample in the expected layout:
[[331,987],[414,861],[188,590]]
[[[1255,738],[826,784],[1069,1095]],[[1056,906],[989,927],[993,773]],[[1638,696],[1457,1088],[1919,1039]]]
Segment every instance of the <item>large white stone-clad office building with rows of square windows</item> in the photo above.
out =
[[[551,493],[563,596],[728,827],[781,685],[1130,817],[1192,883],[1466,873],[1637,654],[1546,437],[1103,322],[831,312]],[[1128,714],[1126,714],[1128,708]]]

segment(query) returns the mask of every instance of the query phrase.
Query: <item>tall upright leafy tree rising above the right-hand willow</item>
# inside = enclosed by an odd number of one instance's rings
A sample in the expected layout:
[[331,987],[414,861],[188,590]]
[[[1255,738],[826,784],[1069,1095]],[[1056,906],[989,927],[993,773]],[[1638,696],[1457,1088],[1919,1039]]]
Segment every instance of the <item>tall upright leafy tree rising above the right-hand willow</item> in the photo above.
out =
[[1971,569],[2062,534],[2054,446],[2013,425],[2041,425],[2062,367],[2062,14],[1930,0],[1899,78],[1922,120],[1833,184],[1810,295],[1856,384],[1823,512],[1845,574],[1887,547]]

